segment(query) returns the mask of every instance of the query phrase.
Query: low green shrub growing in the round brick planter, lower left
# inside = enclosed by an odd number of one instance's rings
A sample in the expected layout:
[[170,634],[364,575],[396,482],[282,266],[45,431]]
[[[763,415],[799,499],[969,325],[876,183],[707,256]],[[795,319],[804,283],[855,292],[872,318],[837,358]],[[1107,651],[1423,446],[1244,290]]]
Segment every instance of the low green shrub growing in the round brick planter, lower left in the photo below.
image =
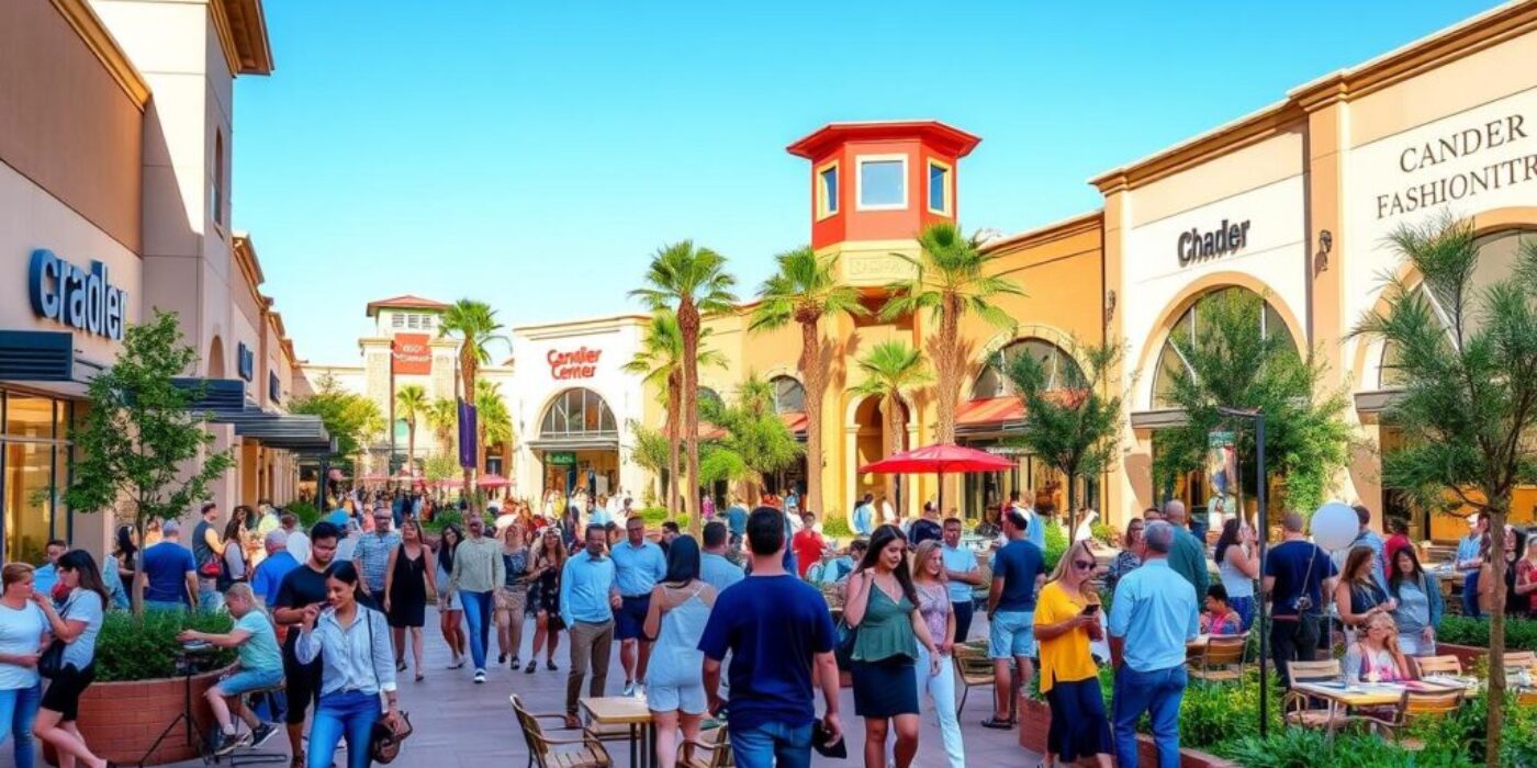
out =
[[[97,634],[95,679],[152,680],[177,676],[177,651],[181,630],[227,633],[234,627],[227,613],[108,611]],[[234,650],[214,651],[215,667],[235,660]]]

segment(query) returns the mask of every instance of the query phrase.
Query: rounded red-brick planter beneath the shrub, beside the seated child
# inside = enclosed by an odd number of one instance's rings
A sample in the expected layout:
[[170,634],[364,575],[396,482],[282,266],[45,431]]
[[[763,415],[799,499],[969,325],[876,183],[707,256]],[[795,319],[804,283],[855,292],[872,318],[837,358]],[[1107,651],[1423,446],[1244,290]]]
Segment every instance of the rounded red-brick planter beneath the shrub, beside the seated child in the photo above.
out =
[[[203,694],[207,693],[226,670],[194,674],[192,691],[192,743],[188,743],[186,725],[166,734],[154,754],[144,751],[155,742],[160,731],[177,719],[186,707],[189,684],[186,677],[163,677],[158,680],[94,682],[80,696],[80,719],[77,725],[86,737],[86,745],[98,757],[118,765],[166,765],[191,760],[198,756],[198,740],[212,728],[214,713]],[[58,765],[52,745],[43,745],[43,759]]]

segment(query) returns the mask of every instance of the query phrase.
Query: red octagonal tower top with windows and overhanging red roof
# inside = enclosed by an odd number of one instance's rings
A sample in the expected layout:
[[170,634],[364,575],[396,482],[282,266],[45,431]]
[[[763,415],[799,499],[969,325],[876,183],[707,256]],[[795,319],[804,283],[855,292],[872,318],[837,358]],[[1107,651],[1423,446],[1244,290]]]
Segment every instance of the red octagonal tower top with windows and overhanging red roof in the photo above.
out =
[[956,164],[981,138],[938,120],[830,123],[785,147],[812,161],[812,247],[911,241],[956,220]]

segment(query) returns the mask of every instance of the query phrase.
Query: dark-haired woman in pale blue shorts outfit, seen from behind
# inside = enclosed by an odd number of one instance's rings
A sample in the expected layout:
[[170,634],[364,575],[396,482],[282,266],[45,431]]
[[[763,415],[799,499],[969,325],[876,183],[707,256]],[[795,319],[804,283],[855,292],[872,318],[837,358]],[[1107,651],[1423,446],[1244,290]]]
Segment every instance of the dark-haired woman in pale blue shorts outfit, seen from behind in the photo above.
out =
[[656,765],[678,762],[679,730],[686,740],[699,739],[707,710],[699,637],[713,605],[715,587],[699,578],[699,545],[693,536],[678,536],[667,548],[667,573],[652,588],[644,627],[647,637],[656,637],[656,653],[646,668],[646,705],[656,723]]

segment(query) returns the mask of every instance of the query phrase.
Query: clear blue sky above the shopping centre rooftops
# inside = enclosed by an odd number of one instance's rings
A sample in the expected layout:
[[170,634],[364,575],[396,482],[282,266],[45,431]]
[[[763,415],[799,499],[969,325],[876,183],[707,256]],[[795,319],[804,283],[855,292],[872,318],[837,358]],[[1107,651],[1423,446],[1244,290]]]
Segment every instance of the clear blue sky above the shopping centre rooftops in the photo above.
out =
[[398,293],[509,326],[635,310],[679,238],[749,295],[808,240],[784,146],[822,123],[981,135],[962,226],[1019,232],[1097,207],[1100,170],[1491,5],[266,0],[277,71],[237,81],[235,226],[315,362],[355,361],[364,304]]

